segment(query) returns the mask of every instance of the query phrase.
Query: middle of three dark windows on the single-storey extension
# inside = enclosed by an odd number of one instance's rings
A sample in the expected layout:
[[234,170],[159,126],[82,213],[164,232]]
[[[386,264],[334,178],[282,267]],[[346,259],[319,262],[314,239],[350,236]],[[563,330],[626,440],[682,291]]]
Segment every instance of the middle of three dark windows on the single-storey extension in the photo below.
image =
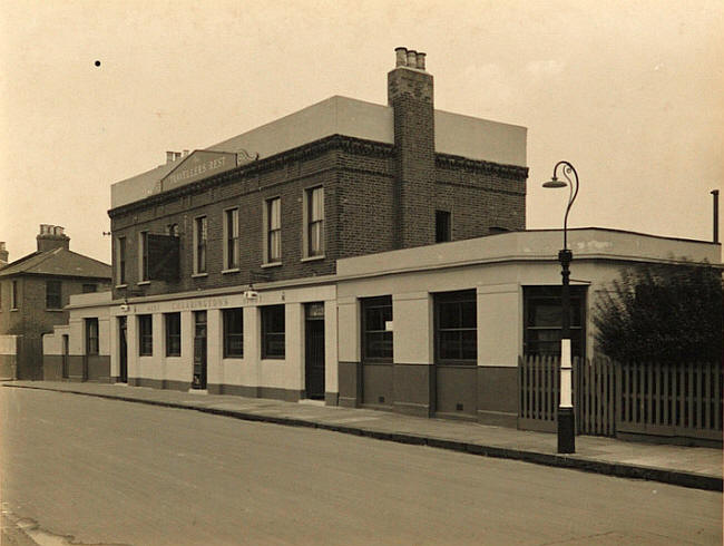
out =
[[474,290],[434,295],[436,363],[476,364],[478,311]]

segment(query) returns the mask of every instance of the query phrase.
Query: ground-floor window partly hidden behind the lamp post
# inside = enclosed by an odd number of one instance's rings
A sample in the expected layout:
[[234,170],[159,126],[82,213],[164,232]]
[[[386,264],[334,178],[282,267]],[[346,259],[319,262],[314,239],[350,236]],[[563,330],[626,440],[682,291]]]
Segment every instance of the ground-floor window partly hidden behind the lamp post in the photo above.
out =
[[[586,353],[586,287],[570,286],[570,345],[574,357]],[[560,286],[524,286],[524,354],[560,355],[562,306]]]

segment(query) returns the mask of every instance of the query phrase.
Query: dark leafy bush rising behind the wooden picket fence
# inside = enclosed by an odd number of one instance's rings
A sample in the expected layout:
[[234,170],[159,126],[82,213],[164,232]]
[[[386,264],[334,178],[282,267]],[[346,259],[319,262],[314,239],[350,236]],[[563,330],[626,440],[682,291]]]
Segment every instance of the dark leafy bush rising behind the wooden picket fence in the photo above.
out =
[[619,362],[721,362],[722,271],[704,264],[642,264],[599,294],[598,348]]

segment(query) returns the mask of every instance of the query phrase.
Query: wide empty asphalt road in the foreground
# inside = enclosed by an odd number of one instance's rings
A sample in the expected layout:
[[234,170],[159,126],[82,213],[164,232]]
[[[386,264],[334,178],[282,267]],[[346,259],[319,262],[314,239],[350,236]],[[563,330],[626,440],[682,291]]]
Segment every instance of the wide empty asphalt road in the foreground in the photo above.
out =
[[3,509],[85,544],[722,544],[722,495],[0,388]]

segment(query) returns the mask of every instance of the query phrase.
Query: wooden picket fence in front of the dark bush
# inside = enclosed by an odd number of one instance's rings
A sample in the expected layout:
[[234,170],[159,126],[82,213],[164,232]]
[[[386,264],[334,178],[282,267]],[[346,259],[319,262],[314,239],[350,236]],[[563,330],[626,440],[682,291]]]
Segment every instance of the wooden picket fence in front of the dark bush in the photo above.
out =
[[[555,431],[558,357],[519,359],[518,426]],[[574,359],[576,432],[722,440],[721,364],[619,364]]]

